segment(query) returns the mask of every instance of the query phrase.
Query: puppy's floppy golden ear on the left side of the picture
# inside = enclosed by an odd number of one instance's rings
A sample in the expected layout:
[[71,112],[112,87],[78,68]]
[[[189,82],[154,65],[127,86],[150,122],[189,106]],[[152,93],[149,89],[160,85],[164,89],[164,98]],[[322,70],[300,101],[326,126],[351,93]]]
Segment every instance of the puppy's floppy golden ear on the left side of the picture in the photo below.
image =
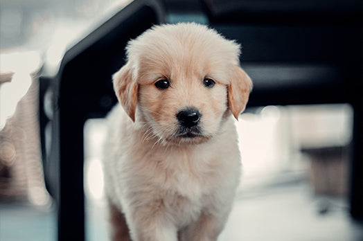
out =
[[137,102],[137,91],[139,84],[137,84],[136,78],[132,74],[130,64],[125,64],[119,71],[112,76],[114,81],[114,91],[118,98],[118,102],[121,103],[123,109],[132,121],[135,121],[135,111]]

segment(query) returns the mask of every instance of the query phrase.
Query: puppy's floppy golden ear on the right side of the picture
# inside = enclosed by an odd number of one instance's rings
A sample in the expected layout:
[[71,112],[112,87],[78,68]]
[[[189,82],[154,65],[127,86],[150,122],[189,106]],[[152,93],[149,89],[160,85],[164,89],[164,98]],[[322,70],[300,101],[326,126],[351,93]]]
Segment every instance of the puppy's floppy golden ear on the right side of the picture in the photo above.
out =
[[252,81],[249,75],[239,66],[233,66],[233,72],[228,87],[228,102],[233,116],[238,116],[245,110],[249,93],[252,90]]

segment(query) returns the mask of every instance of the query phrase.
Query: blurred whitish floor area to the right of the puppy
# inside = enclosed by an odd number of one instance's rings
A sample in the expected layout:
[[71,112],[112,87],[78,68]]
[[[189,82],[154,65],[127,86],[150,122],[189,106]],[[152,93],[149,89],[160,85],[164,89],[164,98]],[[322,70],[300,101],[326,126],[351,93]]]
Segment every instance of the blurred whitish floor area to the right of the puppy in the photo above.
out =
[[305,184],[242,193],[220,241],[362,241],[342,199],[314,197]]

